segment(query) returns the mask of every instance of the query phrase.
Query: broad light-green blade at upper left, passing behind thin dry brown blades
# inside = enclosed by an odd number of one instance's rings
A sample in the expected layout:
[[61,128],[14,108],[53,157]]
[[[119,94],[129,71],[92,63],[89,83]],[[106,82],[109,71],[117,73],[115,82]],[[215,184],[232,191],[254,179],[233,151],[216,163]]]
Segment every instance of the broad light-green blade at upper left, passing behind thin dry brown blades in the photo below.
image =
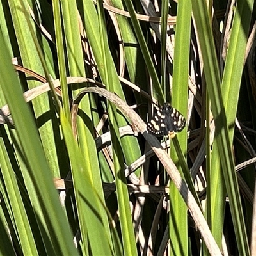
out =
[[[42,68],[40,57],[36,49],[36,45],[33,42],[33,33],[36,33],[35,24],[33,23],[33,32],[30,30],[31,26],[28,24],[28,3],[22,1],[8,1],[10,6],[10,12],[12,14],[13,26],[15,29],[15,36],[19,45],[20,56],[24,67],[31,68],[38,74],[44,74],[44,68]],[[26,4],[26,7],[24,7]],[[27,26],[28,29],[24,29]],[[44,41],[45,38],[42,38]],[[42,46],[42,45],[41,45]],[[49,46],[48,46],[49,48]],[[29,88],[38,86],[38,81],[31,80],[27,84],[22,84],[25,88],[28,85]],[[49,166],[54,173],[54,176],[58,177],[59,167],[57,161],[56,145],[54,142],[54,131],[52,128],[52,122],[56,122],[56,113],[52,108],[52,99],[47,94],[40,95],[32,102],[33,111],[35,112],[36,118],[38,118],[38,131],[40,132],[40,138],[45,151]],[[45,113],[47,113],[45,115]],[[49,121],[50,120],[50,121]]]

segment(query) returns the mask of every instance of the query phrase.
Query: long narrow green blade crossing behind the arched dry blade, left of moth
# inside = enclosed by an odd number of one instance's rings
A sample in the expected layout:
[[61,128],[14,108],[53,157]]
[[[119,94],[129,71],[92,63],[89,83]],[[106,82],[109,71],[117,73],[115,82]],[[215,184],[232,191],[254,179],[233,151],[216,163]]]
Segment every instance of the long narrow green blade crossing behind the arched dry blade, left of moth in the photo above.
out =
[[[102,57],[104,62],[104,71],[106,79],[106,89],[110,92],[115,92],[113,79],[111,77],[111,67],[108,66],[108,38],[104,23],[104,10],[102,3],[98,3],[99,12],[99,28],[100,28],[100,43],[102,49]],[[129,207],[129,193],[127,189],[126,179],[124,175],[124,159],[122,155],[122,147],[120,134],[118,131],[118,122],[116,122],[116,107],[111,102],[108,102],[109,127],[111,133],[111,142],[113,150],[114,169],[116,177],[116,193],[118,200],[118,209],[120,211],[120,225],[122,233],[122,241],[124,246],[124,255],[137,255],[134,230],[132,225],[131,211]]]

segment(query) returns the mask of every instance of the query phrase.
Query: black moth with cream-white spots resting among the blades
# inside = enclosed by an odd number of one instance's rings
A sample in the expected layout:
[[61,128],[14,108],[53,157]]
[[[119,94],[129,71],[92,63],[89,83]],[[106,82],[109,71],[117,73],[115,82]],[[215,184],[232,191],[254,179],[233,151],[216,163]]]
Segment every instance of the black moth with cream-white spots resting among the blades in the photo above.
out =
[[184,116],[170,104],[164,103],[163,107],[156,109],[155,115],[147,124],[147,130],[157,137],[169,135],[173,138],[177,132],[184,129],[185,125]]

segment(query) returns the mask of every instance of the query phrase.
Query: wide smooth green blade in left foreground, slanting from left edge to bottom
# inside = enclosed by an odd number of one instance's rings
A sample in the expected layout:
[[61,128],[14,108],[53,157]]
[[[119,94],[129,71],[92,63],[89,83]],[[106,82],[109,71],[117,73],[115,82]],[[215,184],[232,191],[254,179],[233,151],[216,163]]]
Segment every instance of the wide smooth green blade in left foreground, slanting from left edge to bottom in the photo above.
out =
[[[0,44],[1,60],[6,60],[0,61],[0,84],[6,102],[8,102],[8,106],[12,112],[12,118],[19,136],[20,149],[22,150],[24,159],[26,159],[26,163],[28,163],[29,176],[31,177],[33,186],[35,186],[36,195],[40,202],[41,212],[36,212],[37,220],[40,223],[47,223],[45,228],[51,234],[51,242],[48,240],[45,243],[54,244],[57,254],[77,255],[67,218],[61,209],[58,194],[52,182],[51,170],[45,158],[35,122],[24,101],[16,74],[13,71],[11,63],[8,61],[10,60],[10,56],[8,49],[6,49],[3,35],[0,36]],[[31,203],[33,204],[33,202]],[[42,230],[42,232],[45,231]]]

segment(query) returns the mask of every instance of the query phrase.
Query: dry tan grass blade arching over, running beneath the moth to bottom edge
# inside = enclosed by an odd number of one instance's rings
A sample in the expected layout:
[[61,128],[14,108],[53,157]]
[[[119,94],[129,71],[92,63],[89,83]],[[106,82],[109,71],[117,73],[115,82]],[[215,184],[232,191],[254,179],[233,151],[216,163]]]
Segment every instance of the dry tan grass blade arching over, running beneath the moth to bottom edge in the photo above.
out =
[[99,95],[102,95],[110,100],[113,104],[116,105],[117,108],[122,111],[122,113],[124,113],[125,116],[127,116],[131,120],[132,124],[137,127],[141,134],[143,134],[145,140],[147,140],[147,142],[154,150],[156,156],[163,164],[164,168],[166,168],[166,171],[168,172],[168,175],[170,175],[175,186],[177,187],[177,189],[179,189],[182,198],[186,202],[186,205],[188,205],[191,216],[193,217],[193,220],[195,221],[198,230],[200,230],[200,233],[202,234],[209,253],[211,253],[211,255],[221,255],[220,248],[216,244],[216,241],[211,234],[211,231],[207,225],[207,222],[205,221],[204,215],[202,214],[200,207],[198,206],[198,204],[196,204],[195,198],[193,198],[193,195],[189,191],[186,182],[182,180],[180,173],[177,170],[172,159],[170,159],[168,154],[163,150],[157,138],[152,136],[151,134],[148,134],[145,122],[123,100],[121,100],[115,94],[108,92],[107,90],[102,88],[86,88],[81,93],[79,93],[79,95],[77,95],[76,99],[74,100],[74,104],[72,106],[73,124],[76,124],[76,116],[79,102],[88,92],[98,93]]

